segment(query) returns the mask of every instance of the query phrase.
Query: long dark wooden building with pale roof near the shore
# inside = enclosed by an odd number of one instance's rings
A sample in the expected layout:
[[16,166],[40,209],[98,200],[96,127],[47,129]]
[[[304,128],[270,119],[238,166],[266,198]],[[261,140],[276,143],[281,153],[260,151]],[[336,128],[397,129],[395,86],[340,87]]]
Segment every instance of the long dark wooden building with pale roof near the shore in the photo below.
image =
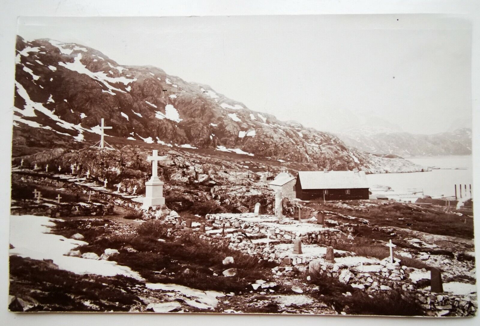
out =
[[296,197],[301,200],[369,199],[364,171],[299,171],[295,183]]

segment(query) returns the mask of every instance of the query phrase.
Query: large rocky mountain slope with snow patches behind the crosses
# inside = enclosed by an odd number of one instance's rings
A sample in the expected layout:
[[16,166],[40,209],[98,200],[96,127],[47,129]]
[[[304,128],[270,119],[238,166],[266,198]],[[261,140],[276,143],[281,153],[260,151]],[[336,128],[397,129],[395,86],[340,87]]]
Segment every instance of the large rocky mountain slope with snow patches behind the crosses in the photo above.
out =
[[105,118],[113,127],[109,136],[147,144],[289,160],[311,169],[421,169],[401,159],[372,158],[334,135],[252,111],[162,69],[120,66],[83,45],[19,36],[15,77],[14,154],[17,146],[82,147],[98,139],[95,127]]

